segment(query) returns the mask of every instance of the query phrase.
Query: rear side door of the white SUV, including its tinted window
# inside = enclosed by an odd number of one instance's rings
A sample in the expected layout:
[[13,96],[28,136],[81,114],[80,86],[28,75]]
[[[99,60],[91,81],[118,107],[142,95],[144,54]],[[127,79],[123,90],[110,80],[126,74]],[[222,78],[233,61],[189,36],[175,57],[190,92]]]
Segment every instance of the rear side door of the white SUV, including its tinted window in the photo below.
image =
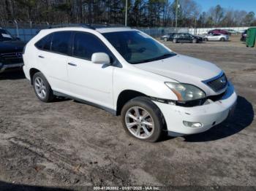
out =
[[67,55],[72,31],[59,31],[45,36],[45,44],[37,52],[37,63],[53,90],[67,93]]

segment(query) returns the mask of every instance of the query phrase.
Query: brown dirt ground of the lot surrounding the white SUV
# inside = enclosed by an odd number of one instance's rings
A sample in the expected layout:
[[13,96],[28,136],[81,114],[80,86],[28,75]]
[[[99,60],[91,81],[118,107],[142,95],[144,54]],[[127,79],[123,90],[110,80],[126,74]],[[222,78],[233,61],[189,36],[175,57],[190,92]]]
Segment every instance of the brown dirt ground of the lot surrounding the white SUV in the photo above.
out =
[[256,48],[234,37],[165,44],[225,70],[239,95],[232,119],[149,144],[102,109],[65,99],[44,104],[22,72],[0,74],[0,185],[256,186]]

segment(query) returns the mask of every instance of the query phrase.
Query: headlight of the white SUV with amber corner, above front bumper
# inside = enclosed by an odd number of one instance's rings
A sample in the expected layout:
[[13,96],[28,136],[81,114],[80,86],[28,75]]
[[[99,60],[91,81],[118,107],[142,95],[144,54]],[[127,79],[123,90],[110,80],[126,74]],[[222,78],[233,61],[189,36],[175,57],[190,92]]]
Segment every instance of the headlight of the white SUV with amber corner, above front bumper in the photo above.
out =
[[165,82],[165,85],[177,95],[178,101],[192,101],[206,98],[206,93],[195,85]]

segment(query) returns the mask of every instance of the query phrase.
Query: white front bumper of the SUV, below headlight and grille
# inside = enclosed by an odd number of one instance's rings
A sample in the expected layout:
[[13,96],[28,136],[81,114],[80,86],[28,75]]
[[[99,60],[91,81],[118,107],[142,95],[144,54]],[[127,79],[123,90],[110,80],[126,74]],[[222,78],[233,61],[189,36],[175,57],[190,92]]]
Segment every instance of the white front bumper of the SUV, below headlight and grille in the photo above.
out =
[[[167,130],[180,134],[201,133],[224,121],[236,107],[237,95],[233,85],[229,84],[223,98],[203,106],[182,107],[154,101],[167,123]],[[200,122],[202,127],[192,128],[184,125],[187,122]]]

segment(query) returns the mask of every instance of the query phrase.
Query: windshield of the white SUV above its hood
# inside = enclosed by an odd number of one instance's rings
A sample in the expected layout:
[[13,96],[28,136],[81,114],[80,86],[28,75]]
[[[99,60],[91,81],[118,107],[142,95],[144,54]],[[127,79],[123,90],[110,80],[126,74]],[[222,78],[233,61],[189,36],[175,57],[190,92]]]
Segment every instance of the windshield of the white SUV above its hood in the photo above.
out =
[[145,63],[176,55],[162,44],[139,31],[102,34],[129,63]]

